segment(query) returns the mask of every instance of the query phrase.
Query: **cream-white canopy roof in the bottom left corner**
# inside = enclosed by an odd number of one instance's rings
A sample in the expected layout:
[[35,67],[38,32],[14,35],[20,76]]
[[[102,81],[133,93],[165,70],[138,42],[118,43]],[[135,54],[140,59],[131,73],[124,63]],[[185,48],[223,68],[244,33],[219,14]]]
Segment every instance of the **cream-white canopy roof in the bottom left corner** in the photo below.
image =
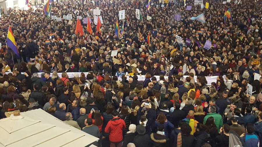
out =
[[0,120],[0,147],[87,146],[98,138],[60,121],[42,109]]

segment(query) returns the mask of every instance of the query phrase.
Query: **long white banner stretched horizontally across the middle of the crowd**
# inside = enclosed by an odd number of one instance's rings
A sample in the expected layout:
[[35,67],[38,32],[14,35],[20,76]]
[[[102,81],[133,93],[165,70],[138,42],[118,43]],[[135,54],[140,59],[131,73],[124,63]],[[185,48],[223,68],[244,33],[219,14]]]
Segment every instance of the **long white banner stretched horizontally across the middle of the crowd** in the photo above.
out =
[[[68,74],[68,77],[69,78],[73,78],[74,77],[74,74],[75,73],[77,73],[79,76],[81,76],[81,72],[68,72],[67,74]],[[6,73],[6,74],[8,74],[8,73]],[[41,77],[41,74],[42,74],[42,72],[39,72],[38,73],[38,75],[39,75],[39,77]],[[58,74],[58,76],[61,78],[62,76],[62,73],[57,73]],[[84,74],[85,74],[85,76],[88,74],[88,72],[84,72]],[[51,75],[50,76],[52,76],[52,73],[51,73]],[[138,81],[144,81],[145,80],[145,76],[144,75],[138,75],[137,76],[138,77]],[[157,81],[159,80],[159,76],[155,76],[156,78],[157,78]],[[186,77],[188,77],[188,76],[184,76],[184,78],[186,78]],[[224,76],[223,76],[224,77]],[[128,80],[128,78],[129,77],[127,77],[127,80]],[[167,79],[168,78],[168,76],[164,76],[164,78],[165,79]],[[195,79],[195,82],[197,82],[197,76],[194,76],[194,79]],[[118,80],[122,80],[122,78],[121,77],[118,77]],[[207,80],[207,85],[211,85],[211,83],[212,82],[217,82],[217,76],[211,76],[211,77],[207,77],[206,76],[206,80]],[[225,79],[224,79],[225,80]]]

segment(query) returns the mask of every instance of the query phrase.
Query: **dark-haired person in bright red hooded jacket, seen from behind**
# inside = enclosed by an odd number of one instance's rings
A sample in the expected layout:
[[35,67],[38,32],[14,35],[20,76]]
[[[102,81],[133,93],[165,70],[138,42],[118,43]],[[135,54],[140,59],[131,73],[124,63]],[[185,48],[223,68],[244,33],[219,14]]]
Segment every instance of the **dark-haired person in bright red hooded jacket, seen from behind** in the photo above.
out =
[[109,133],[110,147],[122,146],[123,130],[125,129],[125,121],[118,117],[118,112],[112,112],[113,119],[111,119],[105,128],[105,132]]

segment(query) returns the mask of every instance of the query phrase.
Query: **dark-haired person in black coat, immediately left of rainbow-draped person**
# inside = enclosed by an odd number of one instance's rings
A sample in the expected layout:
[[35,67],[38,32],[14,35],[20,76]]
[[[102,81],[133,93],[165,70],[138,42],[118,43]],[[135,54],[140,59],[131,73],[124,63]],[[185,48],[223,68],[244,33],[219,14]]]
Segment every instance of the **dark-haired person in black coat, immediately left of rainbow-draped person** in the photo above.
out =
[[187,114],[185,111],[180,110],[180,104],[178,102],[175,102],[174,104],[174,112],[170,114],[169,121],[174,125],[174,127],[178,127],[178,123],[180,120],[184,119]]

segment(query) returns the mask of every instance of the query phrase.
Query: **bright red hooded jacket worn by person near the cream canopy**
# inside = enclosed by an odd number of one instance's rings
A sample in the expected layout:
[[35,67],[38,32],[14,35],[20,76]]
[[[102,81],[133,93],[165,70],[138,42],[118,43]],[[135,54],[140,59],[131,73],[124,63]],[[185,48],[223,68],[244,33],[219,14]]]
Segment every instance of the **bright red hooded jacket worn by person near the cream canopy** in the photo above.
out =
[[105,128],[105,132],[109,133],[109,141],[120,142],[123,140],[123,130],[125,129],[125,121],[120,117],[111,119]]

